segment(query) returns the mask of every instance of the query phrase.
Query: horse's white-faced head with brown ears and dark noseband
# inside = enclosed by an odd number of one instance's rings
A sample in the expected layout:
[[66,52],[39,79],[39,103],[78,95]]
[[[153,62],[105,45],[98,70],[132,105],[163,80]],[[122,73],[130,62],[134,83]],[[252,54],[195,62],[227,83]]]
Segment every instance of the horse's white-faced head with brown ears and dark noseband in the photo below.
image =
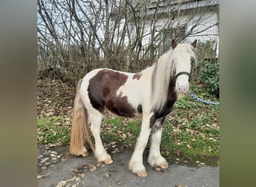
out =
[[173,61],[176,67],[175,70],[175,91],[178,95],[183,95],[189,91],[189,78],[192,73],[192,69],[195,66],[195,46],[197,40],[193,43],[176,43],[172,40],[173,49]]

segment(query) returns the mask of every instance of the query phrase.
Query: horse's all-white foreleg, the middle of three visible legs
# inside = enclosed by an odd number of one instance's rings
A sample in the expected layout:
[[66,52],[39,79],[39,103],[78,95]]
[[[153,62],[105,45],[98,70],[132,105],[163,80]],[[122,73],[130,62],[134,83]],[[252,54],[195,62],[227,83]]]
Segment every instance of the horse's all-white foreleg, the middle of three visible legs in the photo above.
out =
[[143,165],[143,152],[147,145],[147,140],[150,135],[150,115],[143,115],[141,132],[135,145],[135,150],[132,154],[132,158],[129,161],[129,170],[133,174],[137,174],[138,177],[146,177],[147,171]]

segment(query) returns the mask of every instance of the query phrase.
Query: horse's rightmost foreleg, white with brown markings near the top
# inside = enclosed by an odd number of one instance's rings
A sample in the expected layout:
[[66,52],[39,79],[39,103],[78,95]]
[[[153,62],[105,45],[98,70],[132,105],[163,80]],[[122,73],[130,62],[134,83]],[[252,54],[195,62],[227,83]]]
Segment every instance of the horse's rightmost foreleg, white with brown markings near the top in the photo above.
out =
[[147,162],[153,168],[168,168],[168,162],[161,156],[160,144],[162,138],[162,123],[164,118],[156,120],[153,125],[153,134],[151,136],[150,153]]

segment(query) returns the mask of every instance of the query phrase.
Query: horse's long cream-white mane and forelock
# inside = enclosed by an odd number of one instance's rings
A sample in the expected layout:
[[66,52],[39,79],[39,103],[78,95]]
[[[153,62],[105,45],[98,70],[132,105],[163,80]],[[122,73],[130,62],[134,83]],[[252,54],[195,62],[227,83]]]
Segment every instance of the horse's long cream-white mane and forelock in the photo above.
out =
[[179,43],[175,49],[169,49],[153,64],[151,86],[151,106],[153,109],[157,110],[164,107],[170,82],[174,81],[176,74],[177,58],[185,58],[185,54],[195,58],[194,48],[190,44]]

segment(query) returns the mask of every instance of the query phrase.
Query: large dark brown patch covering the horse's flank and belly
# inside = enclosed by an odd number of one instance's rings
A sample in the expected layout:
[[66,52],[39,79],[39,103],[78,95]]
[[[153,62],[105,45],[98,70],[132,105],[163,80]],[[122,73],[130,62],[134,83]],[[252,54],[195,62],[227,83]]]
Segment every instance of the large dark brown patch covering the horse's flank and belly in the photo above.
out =
[[127,96],[117,96],[118,89],[127,82],[128,76],[112,70],[100,70],[88,85],[91,105],[101,113],[108,108],[123,117],[134,117],[136,109],[128,102]]

